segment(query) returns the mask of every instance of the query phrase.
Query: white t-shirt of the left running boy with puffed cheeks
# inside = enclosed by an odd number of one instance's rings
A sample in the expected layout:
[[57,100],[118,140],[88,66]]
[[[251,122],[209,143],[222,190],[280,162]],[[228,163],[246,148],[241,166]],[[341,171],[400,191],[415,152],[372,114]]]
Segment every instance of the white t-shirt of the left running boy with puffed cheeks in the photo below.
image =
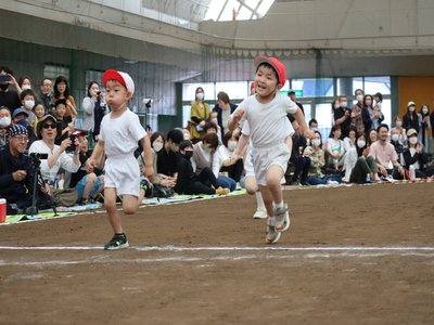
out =
[[104,141],[107,157],[133,154],[138,142],[148,135],[139,121],[139,117],[129,108],[119,117],[112,118],[112,113],[101,121],[100,140]]

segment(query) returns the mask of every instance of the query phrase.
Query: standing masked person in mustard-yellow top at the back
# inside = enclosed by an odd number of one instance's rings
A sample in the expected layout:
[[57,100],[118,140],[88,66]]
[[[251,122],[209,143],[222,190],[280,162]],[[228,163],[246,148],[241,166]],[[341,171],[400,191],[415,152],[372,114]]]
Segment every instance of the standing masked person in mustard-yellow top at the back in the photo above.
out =
[[209,118],[210,108],[207,103],[204,102],[205,92],[202,87],[197,87],[195,91],[194,102],[191,104],[191,141],[193,143],[200,142],[205,135],[204,128],[205,121]]

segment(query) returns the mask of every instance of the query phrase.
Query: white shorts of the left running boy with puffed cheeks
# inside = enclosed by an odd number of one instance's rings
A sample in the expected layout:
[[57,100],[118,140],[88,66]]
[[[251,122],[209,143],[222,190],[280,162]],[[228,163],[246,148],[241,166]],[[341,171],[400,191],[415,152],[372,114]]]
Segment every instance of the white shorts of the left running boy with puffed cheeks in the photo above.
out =
[[108,157],[104,169],[104,188],[114,187],[117,195],[139,197],[140,168],[133,155]]

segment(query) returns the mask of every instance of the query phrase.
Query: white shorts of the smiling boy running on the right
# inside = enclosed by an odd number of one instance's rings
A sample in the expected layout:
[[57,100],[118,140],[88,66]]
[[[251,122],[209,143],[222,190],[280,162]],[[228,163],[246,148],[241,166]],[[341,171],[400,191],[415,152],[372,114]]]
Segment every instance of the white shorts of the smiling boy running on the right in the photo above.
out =
[[254,148],[253,167],[255,170],[256,183],[267,185],[267,171],[270,166],[279,166],[283,174],[291,158],[291,148],[285,143],[280,143],[267,148]]

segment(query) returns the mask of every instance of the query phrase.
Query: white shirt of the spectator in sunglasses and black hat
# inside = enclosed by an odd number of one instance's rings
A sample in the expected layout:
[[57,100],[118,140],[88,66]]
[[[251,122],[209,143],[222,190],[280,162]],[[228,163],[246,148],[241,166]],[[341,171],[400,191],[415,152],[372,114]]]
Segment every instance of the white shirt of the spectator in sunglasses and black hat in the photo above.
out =
[[[42,140],[38,140],[31,143],[28,153],[48,154],[48,157],[51,157],[59,150],[60,146],[54,144],[53,151],[51,151]],[[60,155],[58,161],[55,161],[51,169],[48,167],[48,159],[41,159],[40,171],[42,179],[49,182],[54,181],[61,168],[69,172],[76,172],[80,168],[80,164],[75,165],[73,157],[65,152]]]

